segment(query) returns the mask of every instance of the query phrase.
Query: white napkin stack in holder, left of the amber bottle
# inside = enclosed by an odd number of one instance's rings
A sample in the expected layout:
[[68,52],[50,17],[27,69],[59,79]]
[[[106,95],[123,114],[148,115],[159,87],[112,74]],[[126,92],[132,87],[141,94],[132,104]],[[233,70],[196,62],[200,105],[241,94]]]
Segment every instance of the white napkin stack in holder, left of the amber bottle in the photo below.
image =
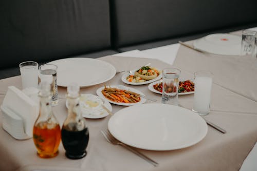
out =
[[14,86],[8,91],[1,106],[3,129],[19,140],[29,139],[33,125],[39,115],[39,104]]

